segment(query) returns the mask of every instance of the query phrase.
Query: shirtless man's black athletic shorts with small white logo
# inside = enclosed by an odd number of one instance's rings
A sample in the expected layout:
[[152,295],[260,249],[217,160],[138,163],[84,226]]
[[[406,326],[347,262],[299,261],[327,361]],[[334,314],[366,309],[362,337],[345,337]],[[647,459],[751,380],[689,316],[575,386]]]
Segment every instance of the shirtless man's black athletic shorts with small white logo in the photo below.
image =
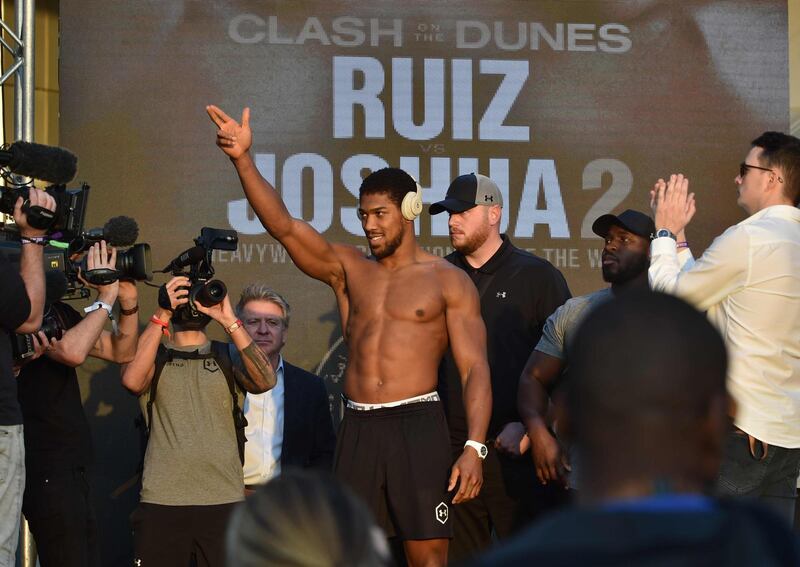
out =
[[336,476],[367,502],[388,537],[453,537],[450,438],[441,402],[346,408],[334,462]]

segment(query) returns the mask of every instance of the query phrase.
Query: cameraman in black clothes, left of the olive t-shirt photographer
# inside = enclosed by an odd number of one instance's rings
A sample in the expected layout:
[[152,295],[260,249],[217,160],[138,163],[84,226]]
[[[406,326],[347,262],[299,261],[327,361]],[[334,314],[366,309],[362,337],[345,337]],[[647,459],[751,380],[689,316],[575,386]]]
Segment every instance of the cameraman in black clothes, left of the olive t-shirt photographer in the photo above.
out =
[[[87,356],[119,364],[133,360],[139,330],[135,283],[122,280],[94,285],[84,279],[93,271],[113,269],[116,260],[116,248],[107,246],[105,240],[87,251],[81,279],[97,290],[97,300],[84,309],[83,317],[59,301],[66,289],[63,274],[48,274],[43,325],[48,330],[32,337],[34,343],[45,347],[44,355],[23,364],[19,374],[26,469],[22,511],[42,567],[100,565],[97,523],[90,501],[92,439],[75,369]],[[61,276],[60,282],[51,275]],[[119,325],[110,332],[104,327],[115,301],[119,302]]]

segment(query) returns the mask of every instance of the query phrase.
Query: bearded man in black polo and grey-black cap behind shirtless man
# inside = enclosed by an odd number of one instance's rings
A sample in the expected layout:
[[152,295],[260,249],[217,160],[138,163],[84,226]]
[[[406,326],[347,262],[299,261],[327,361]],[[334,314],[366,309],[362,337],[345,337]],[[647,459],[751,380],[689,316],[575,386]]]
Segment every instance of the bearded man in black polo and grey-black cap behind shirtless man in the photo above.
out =
[[[530,522],[561,493],[535,482],[530,459],[520,458],[529,442],[517,413],[517,386],[547,317],[570,297],[569,288],[548,261],[516,248],[500,234],[503,196],[488,177],[461,175],[450,184],[432,215],[450,215],[446,259],[464,270],[478,288],[486,323],[492,376],[492,418],[487,432],[483,487],[477,498],[453,507],[450,560],[463,561]],[[453,454],[467,439],[459,373],[448,352],[439,370]],[[562,491],[563,492],[563,491]]]

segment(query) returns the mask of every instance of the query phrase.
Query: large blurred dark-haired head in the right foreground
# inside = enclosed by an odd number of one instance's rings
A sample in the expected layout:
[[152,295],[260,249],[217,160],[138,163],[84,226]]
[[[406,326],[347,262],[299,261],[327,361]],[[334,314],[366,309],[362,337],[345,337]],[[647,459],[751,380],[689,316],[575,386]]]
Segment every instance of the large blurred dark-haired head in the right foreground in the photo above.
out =
[[572,343],[567,419],[587,503],[710,492],[729,409],[722,337],[684,301],[626,294]]

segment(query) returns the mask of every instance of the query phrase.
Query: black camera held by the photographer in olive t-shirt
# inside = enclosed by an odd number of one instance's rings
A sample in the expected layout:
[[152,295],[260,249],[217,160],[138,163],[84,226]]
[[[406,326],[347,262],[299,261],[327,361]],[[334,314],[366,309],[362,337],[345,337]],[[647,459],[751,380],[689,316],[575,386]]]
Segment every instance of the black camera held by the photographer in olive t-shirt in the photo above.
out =
[[[239,236],[235,230],[203,227],[194,243],[194,247],[185,250],[161,270],[174,276],[186,276],[190,281],[189,303],[185,310],[178,310],[180,314],[176,311],[176,322],[192,319],[207,322],[206,316],[197,311],[196,305],[199,303],[204,307],[212,307],[225,299],[228,289],[222,281],[213,279],[211,255],[214,250],[236,250]],[[158,303],[165,309],[170,308],[169,297],[163,286],[159,290]]]

